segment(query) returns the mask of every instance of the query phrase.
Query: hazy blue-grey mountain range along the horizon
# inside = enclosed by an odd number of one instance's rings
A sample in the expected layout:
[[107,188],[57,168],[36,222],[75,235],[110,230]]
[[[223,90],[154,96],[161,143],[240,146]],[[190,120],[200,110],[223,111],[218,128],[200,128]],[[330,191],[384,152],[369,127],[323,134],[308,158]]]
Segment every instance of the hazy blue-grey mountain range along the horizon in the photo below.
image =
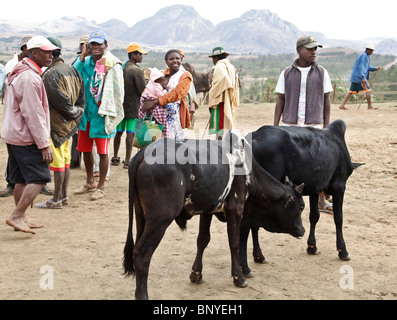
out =
[[97,29],[103,30],[123,45],[138,42],[149,48],[177,47],[208,52],[213,47],[223,46],[233,53],[291,53],[295,52],[296,40],[302,35],[310,34],[327,47],[363,50],[366,42],[374,42],[377,44],[377,53],[397,55],[397,39],[327,39],[318,32],[299,30],[269,10],[250,10],[239,18],[217,25],[203,19],[193,7],[186,5],[160,9],[154,16],[141,20],[132,27],[118,19],[98,24],[84,17],[63,17],[38,24],[0,20],[0,37],[41,34],[70,39]]

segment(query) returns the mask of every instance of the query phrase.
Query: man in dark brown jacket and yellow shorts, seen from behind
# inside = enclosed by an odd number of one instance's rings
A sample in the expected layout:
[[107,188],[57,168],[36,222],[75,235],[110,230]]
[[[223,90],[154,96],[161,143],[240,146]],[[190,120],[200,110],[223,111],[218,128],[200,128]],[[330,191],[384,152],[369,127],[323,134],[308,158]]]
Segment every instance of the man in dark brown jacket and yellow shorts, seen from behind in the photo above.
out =
[[[59,48],[59,39],[49,37],[48,40]],[[52,52],[54,60],[43,73],[50,106],[51,148],[54,161],[50,170],[54,172],[54,196],[37,208],[62,209],[69,205],[68,184],[70,177],[71,151],[69,139],[78,131],[78,125],[84,112],[85,95],[83,79],[72,66],[64,63],[61,49]]]

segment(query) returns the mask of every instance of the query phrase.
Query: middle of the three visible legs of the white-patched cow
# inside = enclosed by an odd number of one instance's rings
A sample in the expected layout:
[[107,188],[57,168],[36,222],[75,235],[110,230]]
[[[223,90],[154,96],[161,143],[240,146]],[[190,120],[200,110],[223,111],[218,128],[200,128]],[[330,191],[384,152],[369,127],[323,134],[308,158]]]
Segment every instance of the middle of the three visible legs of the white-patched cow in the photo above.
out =
[[190,273],[190,281],[193,283],[200,284],[203,282],[203,254],[205,248],[211,240],[211,227],[212,214],[202,213],[200,215],[200,227],[199,234],[197,236],[197,253],[196,259],[192,266],[192,272]]

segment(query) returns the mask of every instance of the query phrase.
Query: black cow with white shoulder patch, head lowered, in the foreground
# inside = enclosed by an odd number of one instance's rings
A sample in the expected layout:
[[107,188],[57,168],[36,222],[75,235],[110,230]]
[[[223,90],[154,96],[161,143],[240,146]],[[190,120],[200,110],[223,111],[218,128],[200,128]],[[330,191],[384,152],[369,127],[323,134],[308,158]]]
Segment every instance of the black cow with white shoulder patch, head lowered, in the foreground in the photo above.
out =
[[[291,233],[303,235],[301,194],[274,179],[252,157],[249,171],[250,145],[233,134],[228,137],[224,141],[160,139],[132,159],[124,271],[127,275],[136,275],[137,299],[148,298],[150,260],[173,220],[184,229],[187,220],[194,215],[212,216],[213,212],[224,210],[236,286],[246,285],[238,250],[241,216],[248,193],[263,201],[274,202],[274,210],[281,212],[275,217],[278,223],[285,224],[284,228],[289,228]],[[135,245],[132,235],[134,207]],[[207,238],[201,229],[200,226],[201,235]],[[198,238],[198,246],[200,241],[202,239]],[[201,273],[201,266],[199,257],[196,257],[192,275]]]

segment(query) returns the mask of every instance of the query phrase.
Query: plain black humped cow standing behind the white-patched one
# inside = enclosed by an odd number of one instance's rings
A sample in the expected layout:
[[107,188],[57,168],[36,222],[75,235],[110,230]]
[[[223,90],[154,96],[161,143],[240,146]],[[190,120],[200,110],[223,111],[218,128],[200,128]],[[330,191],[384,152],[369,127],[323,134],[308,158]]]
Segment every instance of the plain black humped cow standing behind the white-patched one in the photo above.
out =
[[[315,228],[320,218],[318,195],[322,191],[332,195],[338,255],[342,260],[350,260],[342,233],[343,198],[347,179],[361,164],[351,162],[345,131],[346,124],[337,120],[324,130],[263,126],[246,138],[252,139],[256,161],[276,179],[283,181],[288,176],[293,183],[305,184],[303,195],[310,196],[309,254],[317,252]],[[265,258],[257,240],[258,228],[252,228],[254,258],[262,262]],[[248,233],[249,230],[245,236]]]

